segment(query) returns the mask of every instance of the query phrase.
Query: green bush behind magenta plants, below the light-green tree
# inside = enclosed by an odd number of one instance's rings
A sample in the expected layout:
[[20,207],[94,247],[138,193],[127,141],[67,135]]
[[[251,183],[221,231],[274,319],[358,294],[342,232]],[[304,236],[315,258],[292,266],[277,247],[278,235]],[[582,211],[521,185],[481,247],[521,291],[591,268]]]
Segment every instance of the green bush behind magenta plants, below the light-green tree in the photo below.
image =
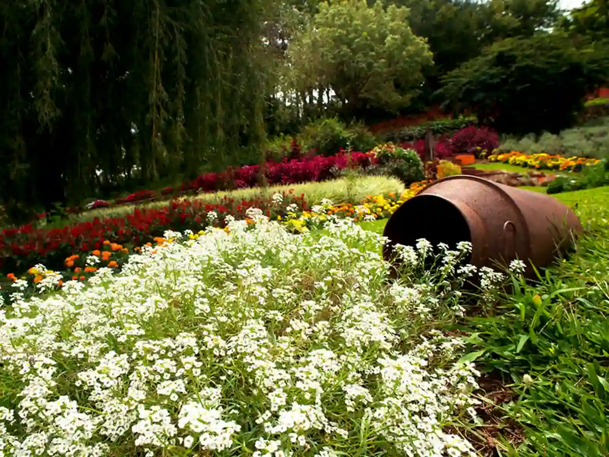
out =
[[376,145],[375,136],[363,126],[347,127],[336,118],[318,119],[301,131],[305,151],[320,155],[334,155],[340,149],[370,151]]

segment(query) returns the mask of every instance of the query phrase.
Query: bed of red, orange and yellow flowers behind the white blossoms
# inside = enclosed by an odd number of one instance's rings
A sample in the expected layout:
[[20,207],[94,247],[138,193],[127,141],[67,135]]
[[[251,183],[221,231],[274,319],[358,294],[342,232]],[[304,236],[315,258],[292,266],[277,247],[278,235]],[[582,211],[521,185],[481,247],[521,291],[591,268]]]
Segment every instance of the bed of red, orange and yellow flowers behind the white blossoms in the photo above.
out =
[[[108,250],[101,258],[101,266],[115,262],[121,266],[133,249],[150,243],[166,230],[192,230],[199,232],[204,225],[225,227],[230,219],[247,219],[250,208],[261,208],[273,220],[281,221],[292,232],[303,232],[322,227],[334,219],[367,221],[389,218],[393,211],[414,196],[426,183],[415,183],[402,194],[389,193],[370,196],[361,205],[323,202],[310,208],[305,196],[291,193],[275,194],[269,199],[224,199],[220,204],[205,204],[200,200],[173,200],[166,207],[138,209],[124,217],[96,218],[62,228],[34,228],[31,224],[2,230],[0,233],[0,271],[16,279],[30,267],[43,264],[52,271],[62,271],[62,280],[88,277],[97,264],[85,264],[91,252]],[[120,246],[116,248],[116,246]],[[99,257],[99,254],[96,254]],[[74,257],[76,256],[76,257]],[[69,259],[69,260],[68,260]],[[85,267],[91,267],[85,271]],[[79,268],[75,271],[74,268]],[[27,279],[36,280],[38,274],[30,271]]]

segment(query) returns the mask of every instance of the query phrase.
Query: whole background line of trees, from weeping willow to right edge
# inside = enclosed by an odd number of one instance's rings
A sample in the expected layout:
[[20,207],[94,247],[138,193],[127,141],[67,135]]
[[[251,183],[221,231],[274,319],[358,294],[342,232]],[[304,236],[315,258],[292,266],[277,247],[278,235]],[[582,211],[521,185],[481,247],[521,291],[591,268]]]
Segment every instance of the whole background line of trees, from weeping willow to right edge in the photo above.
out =
[[334,116],[443,104],[561,129],[607,80],[608,17],[607,0],[4,1],[0,205],[18,220],[256,163]]

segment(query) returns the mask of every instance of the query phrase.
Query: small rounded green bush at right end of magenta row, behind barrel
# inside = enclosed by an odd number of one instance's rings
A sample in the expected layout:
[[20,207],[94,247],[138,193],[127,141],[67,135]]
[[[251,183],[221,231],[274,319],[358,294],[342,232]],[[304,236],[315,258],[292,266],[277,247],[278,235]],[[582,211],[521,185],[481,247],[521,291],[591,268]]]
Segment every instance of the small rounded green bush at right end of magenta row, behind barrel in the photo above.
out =
[[370,170],[372,174],[395,176],[406,185],[425,179],[423,162],[414,149],[387,143],[375,147],[372,152],[378,158],[378,165]]

